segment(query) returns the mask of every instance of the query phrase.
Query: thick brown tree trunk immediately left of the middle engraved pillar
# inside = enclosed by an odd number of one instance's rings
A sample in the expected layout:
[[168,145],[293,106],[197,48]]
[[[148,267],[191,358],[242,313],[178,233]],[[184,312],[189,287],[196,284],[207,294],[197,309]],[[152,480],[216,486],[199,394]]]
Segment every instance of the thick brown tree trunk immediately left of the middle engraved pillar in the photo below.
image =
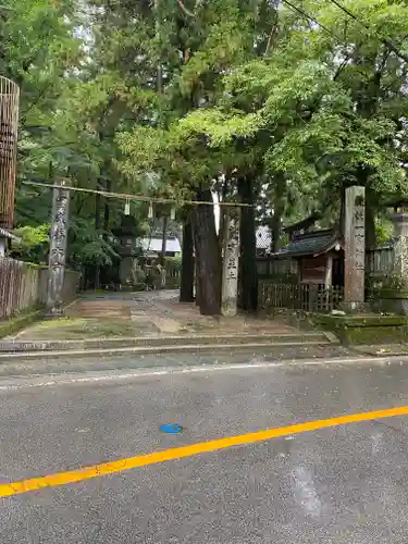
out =
[[[211,191],[197,191],[197,199],[211,201]],[[196,207],[194,236],[200,312],[205,316],[219,316],[221,312],[221,254],[212,206],[200,205]]]

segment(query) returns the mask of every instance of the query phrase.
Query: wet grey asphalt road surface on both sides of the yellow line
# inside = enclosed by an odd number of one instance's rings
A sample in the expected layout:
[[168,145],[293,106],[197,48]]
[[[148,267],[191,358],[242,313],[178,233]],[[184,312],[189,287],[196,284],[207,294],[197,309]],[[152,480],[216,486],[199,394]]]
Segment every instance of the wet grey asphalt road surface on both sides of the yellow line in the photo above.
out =
[[[0,482],[407,405],[399,362],[24,381],[0,388]],[[406,544],[407,433],[354,422],[0,498],[0,542]]]

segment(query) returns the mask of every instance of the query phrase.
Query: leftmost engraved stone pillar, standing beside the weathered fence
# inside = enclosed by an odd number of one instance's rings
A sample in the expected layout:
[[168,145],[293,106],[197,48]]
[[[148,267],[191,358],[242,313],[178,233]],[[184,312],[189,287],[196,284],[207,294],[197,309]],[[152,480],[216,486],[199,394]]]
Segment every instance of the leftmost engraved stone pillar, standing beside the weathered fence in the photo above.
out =
[[69,181],[59,182],[53,189],[52,225],[48,263],[47,314],[62,316],[62,287],[65,275],[66,240],[69,232],[70,190]]

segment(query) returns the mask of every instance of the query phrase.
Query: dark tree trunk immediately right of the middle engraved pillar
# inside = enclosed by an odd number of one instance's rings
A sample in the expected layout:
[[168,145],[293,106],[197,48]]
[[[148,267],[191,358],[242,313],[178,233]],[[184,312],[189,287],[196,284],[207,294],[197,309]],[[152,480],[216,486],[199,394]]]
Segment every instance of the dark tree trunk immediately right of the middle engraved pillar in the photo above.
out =
[[[254,205],[254,181],[242,177],[238,181],[238,194],[242,202]],[[255,227],[255,208],[242,208],[239,236],[239,304],[246,311],[255,311],[258,306],[257,240]]]

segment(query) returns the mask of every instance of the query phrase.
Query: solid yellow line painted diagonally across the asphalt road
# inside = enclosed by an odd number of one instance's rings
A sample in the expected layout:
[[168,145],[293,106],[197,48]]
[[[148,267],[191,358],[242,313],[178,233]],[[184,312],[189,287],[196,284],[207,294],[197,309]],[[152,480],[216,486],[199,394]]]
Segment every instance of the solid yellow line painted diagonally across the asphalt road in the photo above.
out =
[[156,465],[158,462],[171,461],[174,459],[182,459],[183,457],[191,457],[208,452],[217,452],[219,449],[226,449],[233,446],[254,444],[256,442],[277,438],[280,436],[287,436],[289,434],[298,434],[305,433],[307,431],[318,431],[319,429],[345,425],[347,423],[358,423],[361,421],[371,421],[374,419],[392,418],[395,416],[407,415],[408,406],[400,406],[386,410],[353,413],[349,416],[341,416],[338,418],[308,421],[306,423],[298,423],[289,426],[279,426],[275,429],[267,429],[265,431],[240,434],[238,436],[228,436],[226,438],[201,442],[199,444],[191,444],[190,446],[175,447],[172,449],[165,449],[164,452],[154,452],[152,454],[139,455],[136,457],[129,457],[127,459],[102,462],[100,465],[94,465],[92,467],[85,467],[83,469],[69,470],[66,472],[59,472],[57,474],[32,478],[29,480],[23,480],[21,482],[1,483],[0,497],[20,495],[29,491],[42,490],[45,487],[55,487],[59,485],[82,482],[83,480],[89,480],[91,478],[115,474],[124,470],[147,467],[148,465]]

